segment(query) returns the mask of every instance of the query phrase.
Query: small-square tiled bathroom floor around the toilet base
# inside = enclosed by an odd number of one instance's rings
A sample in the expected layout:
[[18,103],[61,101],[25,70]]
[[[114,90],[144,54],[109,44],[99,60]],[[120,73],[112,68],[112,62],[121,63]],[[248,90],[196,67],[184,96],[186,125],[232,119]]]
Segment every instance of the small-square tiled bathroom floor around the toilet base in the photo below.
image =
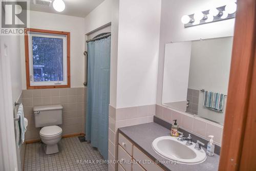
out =
[[[102,157],[99,152],[87,143],[80,142],[78,137],[63,138],[59,143],[59,153],[46,155],[41,143],[26,145],[24,171],[76,171],[108,170],[107,164],[97,163]],[[82,160],[82,163],[77,163]],[[86,162],[87,163],[86,164]],[[95,164],[90,163],[94,161]]]

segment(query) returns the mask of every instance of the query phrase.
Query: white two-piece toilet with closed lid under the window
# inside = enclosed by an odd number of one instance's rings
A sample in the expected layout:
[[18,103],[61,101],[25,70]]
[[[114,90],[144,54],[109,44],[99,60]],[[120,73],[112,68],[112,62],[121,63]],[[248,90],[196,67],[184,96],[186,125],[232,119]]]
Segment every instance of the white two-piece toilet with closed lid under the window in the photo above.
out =
[[47,155],[58,153],[61,140],[62,105],[34,106],[35,127],[40,127],[40,138]]

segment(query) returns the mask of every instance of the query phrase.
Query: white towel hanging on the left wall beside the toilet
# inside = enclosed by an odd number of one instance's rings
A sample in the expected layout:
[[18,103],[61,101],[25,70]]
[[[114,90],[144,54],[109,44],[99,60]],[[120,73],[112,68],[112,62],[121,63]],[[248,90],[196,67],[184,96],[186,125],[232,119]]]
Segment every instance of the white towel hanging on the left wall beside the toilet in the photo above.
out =
[[20,129],[20,138],[19,145],[24,143],[25,140],[25,132],[27,131],[28,119],[24,117],[23,104],[18,106],[17,117],[19,117],[19,129]]

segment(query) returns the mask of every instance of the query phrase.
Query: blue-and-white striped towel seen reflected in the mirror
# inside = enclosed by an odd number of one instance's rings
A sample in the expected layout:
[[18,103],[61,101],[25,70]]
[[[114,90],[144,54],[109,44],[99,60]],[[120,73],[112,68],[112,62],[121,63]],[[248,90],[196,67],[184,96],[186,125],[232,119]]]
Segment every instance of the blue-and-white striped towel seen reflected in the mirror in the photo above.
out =
[[223,112],[224,94],[205,91],[204,106],[217,112]]

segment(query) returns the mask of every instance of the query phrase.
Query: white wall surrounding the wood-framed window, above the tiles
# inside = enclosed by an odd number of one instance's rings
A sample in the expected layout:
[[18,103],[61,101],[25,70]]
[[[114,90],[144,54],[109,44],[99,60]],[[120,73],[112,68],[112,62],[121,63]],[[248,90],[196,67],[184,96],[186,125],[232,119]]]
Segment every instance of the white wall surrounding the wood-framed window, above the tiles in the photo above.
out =
[[[70,32],[71,87],[83,87],[84,82],[84,18],[30,11],[30,28]],[[22,49],[22,82],[26,89],[26,67],[24,37],[20,41]]]

